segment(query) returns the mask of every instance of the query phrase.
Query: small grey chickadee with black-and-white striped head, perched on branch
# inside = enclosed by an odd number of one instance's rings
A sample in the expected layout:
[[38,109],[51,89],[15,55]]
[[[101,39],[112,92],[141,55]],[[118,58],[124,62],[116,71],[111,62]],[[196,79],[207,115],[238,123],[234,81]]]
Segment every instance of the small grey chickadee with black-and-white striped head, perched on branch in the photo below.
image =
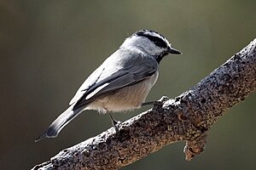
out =
[[145,102],[159,75],[160,60],[167,54],[182,54],[166,37],[156,31],[137,31],[90,74],[69,103],[69,108],[51,123],[35,141],[55,138],[61,129],[82,111],[108,113],[113,127],[116,122],[109,112],[129,111]]

